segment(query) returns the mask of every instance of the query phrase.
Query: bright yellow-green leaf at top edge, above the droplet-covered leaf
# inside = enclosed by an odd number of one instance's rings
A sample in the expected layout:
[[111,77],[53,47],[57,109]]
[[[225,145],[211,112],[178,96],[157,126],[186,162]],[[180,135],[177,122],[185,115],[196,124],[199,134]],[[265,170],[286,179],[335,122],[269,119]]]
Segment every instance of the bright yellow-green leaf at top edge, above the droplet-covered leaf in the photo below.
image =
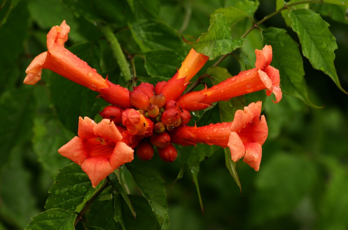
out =
[[242,1],[237,2],[234,6],[227,8],[219,8],[210,15],[210,24],[215,20],[215,15],[223,14],[226,17],[226,20],[230,26],[235,25],[240,20],[249,17],[253,21],[253,15],[256,9],[259,6],[258,1]]

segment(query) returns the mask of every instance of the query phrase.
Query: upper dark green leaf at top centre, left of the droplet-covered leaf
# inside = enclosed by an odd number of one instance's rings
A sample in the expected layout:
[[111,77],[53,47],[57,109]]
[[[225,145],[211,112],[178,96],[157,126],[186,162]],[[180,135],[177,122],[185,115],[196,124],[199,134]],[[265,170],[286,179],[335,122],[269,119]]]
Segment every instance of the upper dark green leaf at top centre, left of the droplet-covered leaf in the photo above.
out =
[[173,50],[185,54],[184,43],[176,31],[157,20],[138,20],[129,23],[132,36],[143,52]]

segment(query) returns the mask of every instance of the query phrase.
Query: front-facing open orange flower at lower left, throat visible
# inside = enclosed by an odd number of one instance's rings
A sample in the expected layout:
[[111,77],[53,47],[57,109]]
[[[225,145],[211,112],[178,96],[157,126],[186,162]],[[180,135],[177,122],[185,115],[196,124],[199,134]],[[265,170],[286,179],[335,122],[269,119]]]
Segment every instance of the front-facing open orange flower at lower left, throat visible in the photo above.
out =
[[122,142],[121,133],[108,119],[97,124],[88,117],[79,117],[78,135],[58,153],[81,165],[93,187],[122,164],[133,160],[134,150]]

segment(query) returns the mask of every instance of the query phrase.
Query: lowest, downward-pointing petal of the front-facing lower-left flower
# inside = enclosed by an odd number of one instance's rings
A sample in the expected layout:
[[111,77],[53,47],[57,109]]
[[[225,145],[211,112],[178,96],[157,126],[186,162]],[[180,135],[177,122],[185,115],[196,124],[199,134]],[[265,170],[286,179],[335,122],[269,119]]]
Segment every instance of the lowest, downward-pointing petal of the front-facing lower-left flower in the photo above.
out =
[[109,158],[105,156],[89,157],[82,163],[81,169],[87,173],[93,188],[113,172]]

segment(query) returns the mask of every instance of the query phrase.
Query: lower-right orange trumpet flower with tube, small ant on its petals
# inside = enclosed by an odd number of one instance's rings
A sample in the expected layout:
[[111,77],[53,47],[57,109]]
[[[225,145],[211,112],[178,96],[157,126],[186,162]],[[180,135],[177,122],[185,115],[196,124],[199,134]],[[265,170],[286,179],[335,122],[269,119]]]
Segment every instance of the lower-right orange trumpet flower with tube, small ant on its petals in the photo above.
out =
[[251,103],[244,110],[237,110],[233,122],[210,124],[202,127],[180,126],[170,132],[171,142],[182,146],[205,143],[229,147],[231,159],[243,161],[259,171],[262,144],[268,128],[264,116],[260,116],[261,102]]

